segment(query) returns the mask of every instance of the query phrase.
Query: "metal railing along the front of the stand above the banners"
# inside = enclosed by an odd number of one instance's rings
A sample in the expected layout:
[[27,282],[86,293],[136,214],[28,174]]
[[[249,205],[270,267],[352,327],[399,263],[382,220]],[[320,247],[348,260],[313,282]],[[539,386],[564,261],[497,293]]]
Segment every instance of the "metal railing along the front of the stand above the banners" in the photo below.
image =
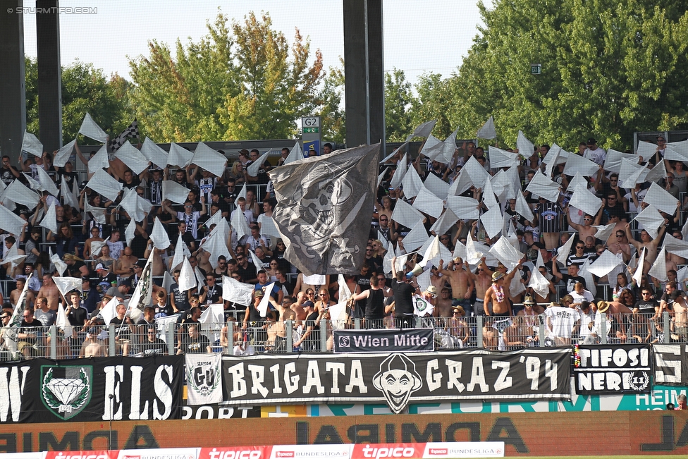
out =
[[[129,355],[173,355],[185,352],[252,355],[333,351],[338,329],[424,328],[434,330],[435,349],[518,350],[574,344],[688,343],[687,324],[669,312],[592,314],[577,321],[556,323],[547,314],[512,317],[413,317],[400,323],[350,319],[319,322],[267,320],[242,327],[229,320],[214,324],[158,324],[66,330],[56,326],[1,328],[0,360],[36,357],[66,359]],[[668,331],[668,333],[666,332]]]

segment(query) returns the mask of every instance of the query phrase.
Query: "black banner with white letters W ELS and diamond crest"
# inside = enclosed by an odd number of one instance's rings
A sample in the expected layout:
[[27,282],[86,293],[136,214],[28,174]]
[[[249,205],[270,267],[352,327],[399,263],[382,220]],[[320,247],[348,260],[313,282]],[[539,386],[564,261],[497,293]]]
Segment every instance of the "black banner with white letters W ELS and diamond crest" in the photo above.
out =
[[183,371],[183,355],[7,363],[0,422],[179,419]]

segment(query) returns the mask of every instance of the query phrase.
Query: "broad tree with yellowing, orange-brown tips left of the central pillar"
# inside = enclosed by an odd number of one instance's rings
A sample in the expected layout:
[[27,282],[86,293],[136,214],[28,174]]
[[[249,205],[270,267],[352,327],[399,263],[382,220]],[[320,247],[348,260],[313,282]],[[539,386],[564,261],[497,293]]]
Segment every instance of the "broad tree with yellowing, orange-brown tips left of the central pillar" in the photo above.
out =
[[149,42],[130,59],[130,98],[156,142],[293,137],[295,120],[317,108],[322,56],[309,64],[299,31],[290,49],[267,14],[243,24],[219,13],[197,44]]

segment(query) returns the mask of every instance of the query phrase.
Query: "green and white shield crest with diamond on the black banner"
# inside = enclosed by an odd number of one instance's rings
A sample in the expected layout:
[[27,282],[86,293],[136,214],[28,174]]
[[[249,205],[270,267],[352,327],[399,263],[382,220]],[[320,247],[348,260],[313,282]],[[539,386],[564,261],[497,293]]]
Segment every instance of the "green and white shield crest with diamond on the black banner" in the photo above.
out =
[[61,420],[78,415],[91,400],[93,368],[90,366],[41,367],[44,405]]

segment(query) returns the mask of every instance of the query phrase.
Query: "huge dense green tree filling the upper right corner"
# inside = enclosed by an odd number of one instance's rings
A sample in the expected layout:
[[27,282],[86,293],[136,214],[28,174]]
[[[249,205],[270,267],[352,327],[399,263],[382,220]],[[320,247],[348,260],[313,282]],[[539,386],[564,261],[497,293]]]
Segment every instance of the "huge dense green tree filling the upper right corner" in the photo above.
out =
[[[447,82],[462,135],[488,116],[501,138],[517,131],[567,149],[594,136],[630,147],[637,130],[688,127],[683,59],[688,8],[650,0],[500,0]],[[530,64],[541,63],[541,75]]]

